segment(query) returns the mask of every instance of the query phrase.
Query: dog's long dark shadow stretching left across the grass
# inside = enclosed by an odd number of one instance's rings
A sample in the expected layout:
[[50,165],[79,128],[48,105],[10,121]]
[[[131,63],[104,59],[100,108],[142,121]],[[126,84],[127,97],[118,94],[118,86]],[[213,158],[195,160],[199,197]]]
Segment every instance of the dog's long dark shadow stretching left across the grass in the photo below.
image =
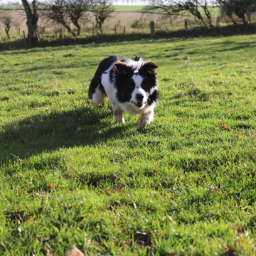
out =
[[119,137],[128,124],[114,123],[108,107],[44,112],[1,127],[0,164],[61,147],[91,146]]

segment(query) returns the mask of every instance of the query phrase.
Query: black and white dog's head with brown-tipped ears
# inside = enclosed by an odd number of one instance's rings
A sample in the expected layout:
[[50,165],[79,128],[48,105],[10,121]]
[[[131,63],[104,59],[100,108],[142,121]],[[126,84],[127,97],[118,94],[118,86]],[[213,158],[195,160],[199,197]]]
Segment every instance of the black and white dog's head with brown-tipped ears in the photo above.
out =
[[146,62],[117,62],[114,65],[114,84],[117,88],[117,100],[129,102],[138,109],[151,105],[158,98],[156,68],[151,60]]

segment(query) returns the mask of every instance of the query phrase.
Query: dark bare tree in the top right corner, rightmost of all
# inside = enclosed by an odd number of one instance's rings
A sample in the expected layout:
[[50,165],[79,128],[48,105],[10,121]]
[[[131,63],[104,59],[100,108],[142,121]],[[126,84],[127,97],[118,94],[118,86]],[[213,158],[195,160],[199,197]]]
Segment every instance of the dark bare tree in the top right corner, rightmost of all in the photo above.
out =
[[247,26],[248,22],[246,14],[256,4],[255,0],[215,0],[215,2],[224,9],[225,14],[231,18],[233,23],[237,23],[232,17],[234,13],[242,20],[245,26]]

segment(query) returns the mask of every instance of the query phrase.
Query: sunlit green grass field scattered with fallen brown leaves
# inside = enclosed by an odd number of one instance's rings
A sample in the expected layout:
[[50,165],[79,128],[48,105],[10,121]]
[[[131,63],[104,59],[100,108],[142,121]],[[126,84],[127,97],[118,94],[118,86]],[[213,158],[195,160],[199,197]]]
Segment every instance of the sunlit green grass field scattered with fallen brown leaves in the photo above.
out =
[[[255,41],[1,52],[0,255],[255,255]],[[159,65],[142,132],[88,101],[114,53]]]

